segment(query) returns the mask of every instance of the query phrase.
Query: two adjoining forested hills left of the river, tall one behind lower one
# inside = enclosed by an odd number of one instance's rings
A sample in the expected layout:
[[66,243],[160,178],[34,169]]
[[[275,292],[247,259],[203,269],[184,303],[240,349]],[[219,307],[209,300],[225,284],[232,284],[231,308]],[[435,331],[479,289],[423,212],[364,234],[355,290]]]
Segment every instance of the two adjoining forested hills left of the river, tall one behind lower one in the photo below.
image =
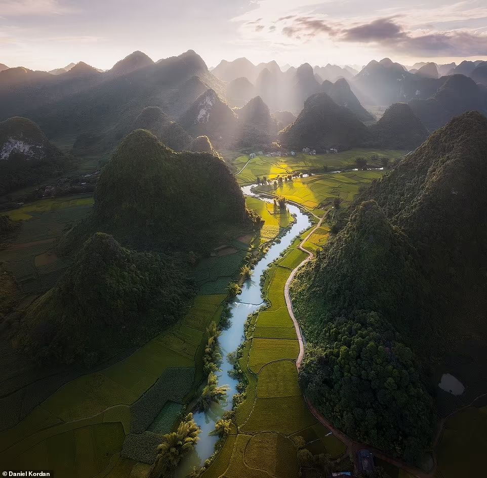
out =
[[221,158],[134,131],[103,168],[91,216],[59,245],[73,264],[23,313],[15,343],[38,361],[86,366],[126,353],[184,316],[194,253],[253,219]]

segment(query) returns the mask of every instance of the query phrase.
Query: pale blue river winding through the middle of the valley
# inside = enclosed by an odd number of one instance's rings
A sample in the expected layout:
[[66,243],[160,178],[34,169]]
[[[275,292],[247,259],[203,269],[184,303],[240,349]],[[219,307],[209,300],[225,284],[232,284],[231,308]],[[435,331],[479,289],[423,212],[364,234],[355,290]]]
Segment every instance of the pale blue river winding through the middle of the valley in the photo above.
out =
[[[267,197],[256,195],[251,191],[254,185],[242,187],[242,192],[247,196],[259,197],[262,201],[271,203],[273,200]],[[189,454],[180,464],[177,476],[183,477],[192,469],[193,466],[200,466],[209,458],[215,449],[218,441],[217,436],[209,435],[215,428],[215,423],[223,416],[223,413],[232,408],[232,397],[237,393],[238,380],[231,377],[229,372],[233,370],[233,365],[228,362],[227,354],[235,351],[244,340],[244,324],[249,314],[255,312],[263,305],[262,288],[260,277],[267,269],[269,263],[277,259],[282,251],[291,246],[295,238],[304,230],[311,226],[308,216],[292,204],[287,205],[289,212],[295,216],[296,222],[280,238],[279,243],[273,244],[266,255],[256,264],[252,276],[242,286],[242,293],[238,295],[230,304],[230,327],[222,332],[218,339],[223,363],[218,373],[218,384],[227,385],[227,400],[219,404],[214,404],[208,411],[193,413],[194,420],[201,427],[199,442],[194,452]]]

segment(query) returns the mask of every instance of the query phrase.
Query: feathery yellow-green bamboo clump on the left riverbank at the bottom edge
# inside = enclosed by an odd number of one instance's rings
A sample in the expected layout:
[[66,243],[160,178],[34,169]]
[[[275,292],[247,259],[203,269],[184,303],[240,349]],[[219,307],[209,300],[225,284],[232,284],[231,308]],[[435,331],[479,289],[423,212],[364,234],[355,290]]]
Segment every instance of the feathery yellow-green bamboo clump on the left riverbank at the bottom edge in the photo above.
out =
[[167,478],[172,474],[181,459],[194,449],[200,431],[193,419],[193,414],[186,415],[177,431],[163,436],[162,443],[157,447],[157,455],[148,478]]

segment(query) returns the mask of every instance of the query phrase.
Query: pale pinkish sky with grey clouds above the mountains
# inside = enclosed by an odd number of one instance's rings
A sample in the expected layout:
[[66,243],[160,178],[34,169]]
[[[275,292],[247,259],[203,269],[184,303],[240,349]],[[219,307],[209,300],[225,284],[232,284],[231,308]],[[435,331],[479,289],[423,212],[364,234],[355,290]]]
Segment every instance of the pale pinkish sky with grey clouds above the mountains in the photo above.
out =
[[299,66],[487,60],[485,0],[0,0],[0,63],[108,69],[194,50]]

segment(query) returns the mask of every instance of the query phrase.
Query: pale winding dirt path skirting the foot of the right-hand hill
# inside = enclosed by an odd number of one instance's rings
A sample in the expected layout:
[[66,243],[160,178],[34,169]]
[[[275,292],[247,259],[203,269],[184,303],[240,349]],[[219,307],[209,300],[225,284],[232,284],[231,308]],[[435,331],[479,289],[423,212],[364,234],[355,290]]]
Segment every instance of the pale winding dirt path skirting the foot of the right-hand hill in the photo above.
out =
[[[294,204],[296,204],[296,203],[294,203]],[[300,205],[298,205],[298,206],[300,206]],[[306,249],[304,247],[304,244],[309,239],[309,237],[311,236],[311,234],[313,234],[313,232],[315,232],[316,229],[318,229],[321,226],[321,224],[323,222],[323,219],[324,219],[324,216],[321,217],[321,218],[318,218],[318,216],[316,216],[314,214],[313,214],[313,216],[316,219],[319,219],[318,223],[316,224],[315,227],[313,227],[311,229],[311,231],[306,235],[306,237],[298,245],[298,249],[300,249],[301,251],[307,253],[308,254],[308,257],[306,259],[304,259],[291,272],[291,275],[289,276],[288,280],[286,281],[286,285],[284,286],[284,295],[285,295],[285,298],[286,298],[286,305],[288,307],[289,315],[291,316],[291,318],[293,320],[294,328],[296,329],[296,335],[298,336],[298,342],[299,342],[299,354],[298,354],[298,358],[296,359],[296,368],[298,369],[298,371],[301,368],[301,365],[302,365],[303,359],[304,359],[304,353],[305,353],[304,339],[303,339],[303,334],[301,332],[301,328],[300,328],[299,323],[298,323],[298,321],[296,319],[296,316],[294,314],[293,302],[291,301],[291,295],[289,293],[289,287],[290,287],[291,283],[293,282],[294,277],[295,277],[296,273],[298,272],[298,270],[304,264],[306,264],[307,262],[309,262],[311,259],[314,258],[314,254],[311,251],[309,251],[308,249]],[[388,463],[390,463],[390,464],[392,464],[394,466],[397,466],[398,468],[402,468],[404,471],[407,471],[408,473],[410,473],[413,476],[416,476],[417,478],[433,478],[434,475],[436,474],[437,462],[436,462],[436,456],[435,456],[434,453],[433,453],[433,462],[434,462],[434,465],[433,465],[432,469],[429,472],[423,471],[423,470],[421,470],[419,468],[416,468],[416,467],[411,466],[411,465],[409,465],[407,463],[404,463],[403,461],[401,461],[401,460],[399,460],[397,458],[394,458],[393,456],[387,455],[384,452],[382,452],[381,450],[378,450],[376,448],[373,448],[373,447],[371,447],[371,446],[369,446],[367,444],[358,443],[358,442],[353,441],[348,435],[346,435],[342,431],[338,430],[329,421],[327,421],[316,410],[316,408],[308,401],[308,399],[306,398],[306,396],[304,397],[304,400],[306,401],[306,405],[308,406],[308,409],[313,414],[313,416],[322,425],[326,426],[339,440],[341,440],[346,445],[347,451],[350,452],[351,455],[352,455],[352,459],[353,459],[353,464],[354,464],[355,471],[357,471],[357,469],[358,469],[358,467],[357,467],[357,452],[358,452],[358,450],[361,450],[362,448],[367,448],[368,450],[370,450],[374,454],[374,456],[376,456],[376,457],[380,458],[381,460],[386,461],[386,462],[388,462]],[[441,431],[441,430],[439,430],[439,431]],[[439,432],[438,432],[438,435],[439,435]],[[435,442],[437,442],[437,440],[438,440],[438,435],[436,437]]]

